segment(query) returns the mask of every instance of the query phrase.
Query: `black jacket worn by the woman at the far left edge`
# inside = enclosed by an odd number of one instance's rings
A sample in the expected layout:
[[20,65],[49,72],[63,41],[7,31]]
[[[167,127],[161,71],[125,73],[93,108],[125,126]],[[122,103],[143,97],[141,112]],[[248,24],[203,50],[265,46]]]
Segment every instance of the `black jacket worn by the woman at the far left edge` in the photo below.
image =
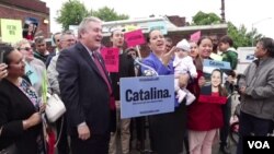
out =
[[5,79],[0,82],[0,151],[15,143],[20,154],[37,154],[36,138],[42,134],[42,125],[23,130],[22,123],[35,111],[33,103],[19,87]]

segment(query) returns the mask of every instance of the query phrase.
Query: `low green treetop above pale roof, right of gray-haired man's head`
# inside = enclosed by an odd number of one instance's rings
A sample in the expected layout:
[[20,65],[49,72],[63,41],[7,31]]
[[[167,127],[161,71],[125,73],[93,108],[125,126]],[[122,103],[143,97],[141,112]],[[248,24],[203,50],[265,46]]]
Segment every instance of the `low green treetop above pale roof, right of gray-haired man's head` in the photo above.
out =
[[127,20],[129,16],[126,14],[118,14],[114,11],[114,9],[110,9],[107,7],[103,7],[98,11],[92,12],[93,16],[96,16],[105,22],[109,21],[119,21],[119,20]]

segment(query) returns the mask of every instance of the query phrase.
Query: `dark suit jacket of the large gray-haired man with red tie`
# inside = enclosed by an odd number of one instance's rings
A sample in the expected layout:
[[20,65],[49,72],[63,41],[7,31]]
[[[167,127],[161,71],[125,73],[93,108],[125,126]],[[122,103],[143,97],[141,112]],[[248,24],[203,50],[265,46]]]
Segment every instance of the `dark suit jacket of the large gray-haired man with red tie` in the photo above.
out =
[[[102,57],[100,59],[104,66]],[[61,98],[67,108],[70,135],[78,135],[77,126],[83,121],[87,122],[92,134],[109,133],[107,84],[85,47],[78,43],[62,50],[57,60],[57,71]]]

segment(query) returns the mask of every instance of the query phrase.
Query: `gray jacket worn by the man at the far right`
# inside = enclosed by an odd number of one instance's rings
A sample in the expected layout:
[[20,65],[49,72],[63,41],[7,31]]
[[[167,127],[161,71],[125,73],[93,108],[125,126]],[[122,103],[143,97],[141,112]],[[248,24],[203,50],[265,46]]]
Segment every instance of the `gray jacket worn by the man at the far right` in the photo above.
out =
[[241,111],[274,120],[274,59],[255,60],[244,75],[247,95],[242,96]]

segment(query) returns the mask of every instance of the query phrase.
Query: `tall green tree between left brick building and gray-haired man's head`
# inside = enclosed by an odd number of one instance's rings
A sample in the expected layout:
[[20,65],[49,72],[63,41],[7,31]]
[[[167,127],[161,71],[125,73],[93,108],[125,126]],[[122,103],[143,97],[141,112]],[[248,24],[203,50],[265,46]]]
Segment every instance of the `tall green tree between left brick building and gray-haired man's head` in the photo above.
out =
[[68,29],[69,25],[80,24],[84,17],[90,15],[90,12],[79,0],[69,0],[65,2],[59,13],[56,21],[61,24],[64,29]]

